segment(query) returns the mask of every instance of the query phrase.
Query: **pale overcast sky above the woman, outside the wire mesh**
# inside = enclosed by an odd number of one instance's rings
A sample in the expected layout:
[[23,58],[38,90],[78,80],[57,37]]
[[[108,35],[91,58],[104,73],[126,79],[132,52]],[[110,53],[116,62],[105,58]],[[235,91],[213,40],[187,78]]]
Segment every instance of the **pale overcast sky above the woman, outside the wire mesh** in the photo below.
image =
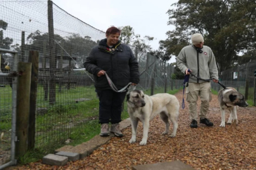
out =
[[[64,11],[79,18],[88,25],[102,31],[109,26],[133,27],[135,34],[141,37],[149,35],[156,40],[150,43],[156,50],[159,47],[159,40],[165,40],[166,32],[174,30],[173,25],[167,25],[168,14],[171,4],[178,0],[52,0]],[[175,59],[172,57],[171,62]]]

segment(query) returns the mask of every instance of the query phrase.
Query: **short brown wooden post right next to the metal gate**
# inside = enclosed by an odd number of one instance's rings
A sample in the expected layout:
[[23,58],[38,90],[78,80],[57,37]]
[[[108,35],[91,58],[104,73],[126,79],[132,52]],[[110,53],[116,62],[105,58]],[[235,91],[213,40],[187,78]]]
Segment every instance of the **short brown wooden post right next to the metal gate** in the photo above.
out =
[[31,63],[19,62],[17,108],[16,108],[16,157],[23,156],[28,150],[28,120],[30,104]]

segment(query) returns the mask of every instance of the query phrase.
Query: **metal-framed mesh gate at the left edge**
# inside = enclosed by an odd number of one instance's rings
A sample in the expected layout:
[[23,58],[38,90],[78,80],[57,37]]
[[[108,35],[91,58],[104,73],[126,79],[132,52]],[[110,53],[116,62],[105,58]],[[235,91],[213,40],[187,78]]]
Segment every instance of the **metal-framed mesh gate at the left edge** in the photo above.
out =
[[0,169],[16,164],[18,52],[0,48]]

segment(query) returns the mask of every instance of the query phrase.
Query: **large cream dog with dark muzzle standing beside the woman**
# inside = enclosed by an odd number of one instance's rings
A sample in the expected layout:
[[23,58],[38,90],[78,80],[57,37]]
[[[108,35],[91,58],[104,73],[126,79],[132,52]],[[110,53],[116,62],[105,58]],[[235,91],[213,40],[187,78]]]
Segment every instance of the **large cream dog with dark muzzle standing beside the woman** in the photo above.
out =
[[162,121],[166,124],[166,130],[163,135],[169,132],[169,120],[173,123],[173,133],[171,137],[175,137],[178,128],[178,116],[180,104],[178,99],[168,93],[155,94],[148,96],[143,94],[143,91],[133,90],[127,94],[128,113],[131,119],[132,135],[130,143],[136,142],[136,133],[138,121],[143,123],[143,137],[140,145],[147,144],[149,133],[149,122],[156,115],[160,115]]

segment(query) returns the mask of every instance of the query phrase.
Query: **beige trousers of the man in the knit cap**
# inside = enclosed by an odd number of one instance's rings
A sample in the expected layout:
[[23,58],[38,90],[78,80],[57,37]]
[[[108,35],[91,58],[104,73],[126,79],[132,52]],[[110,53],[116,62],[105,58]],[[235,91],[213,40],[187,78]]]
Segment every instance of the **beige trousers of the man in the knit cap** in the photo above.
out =
[[200,118],[206,118],[209,110],[209,101],[212,100],[210,82],[195,83],[189,82],[186,88],[186,101],[188,101],[188,111],[191,120],[197,120],[197,100],[200,97],[202,103],[200,108]]

